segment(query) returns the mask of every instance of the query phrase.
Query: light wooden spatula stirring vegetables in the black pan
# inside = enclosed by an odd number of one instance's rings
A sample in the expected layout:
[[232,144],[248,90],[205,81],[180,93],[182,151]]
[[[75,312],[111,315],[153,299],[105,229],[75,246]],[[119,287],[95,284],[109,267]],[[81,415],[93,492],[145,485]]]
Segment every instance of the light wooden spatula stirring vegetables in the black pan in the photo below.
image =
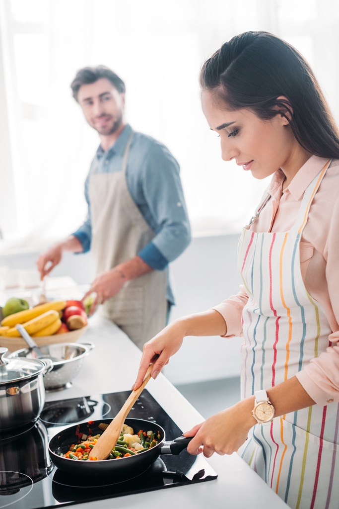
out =
[[125,405],[114,417],[108,428],[106,428],[105,433],[103,433],[103,435],[98,439],[98,442],[89,453],[88,459],[98,458],[98,460],[107,460],[108,456],[112,452],[113,447],[115,447],[116,442],[119,440],[122,425],[124,424],[129,411],[139,398],[141,392],[143,391],[147,382],[150,379],[151,369],[152,364],[150,364],[145,375],[144,381],[142,382],[140,387],[137,390],[132,390],[131,394],[126,400]]

